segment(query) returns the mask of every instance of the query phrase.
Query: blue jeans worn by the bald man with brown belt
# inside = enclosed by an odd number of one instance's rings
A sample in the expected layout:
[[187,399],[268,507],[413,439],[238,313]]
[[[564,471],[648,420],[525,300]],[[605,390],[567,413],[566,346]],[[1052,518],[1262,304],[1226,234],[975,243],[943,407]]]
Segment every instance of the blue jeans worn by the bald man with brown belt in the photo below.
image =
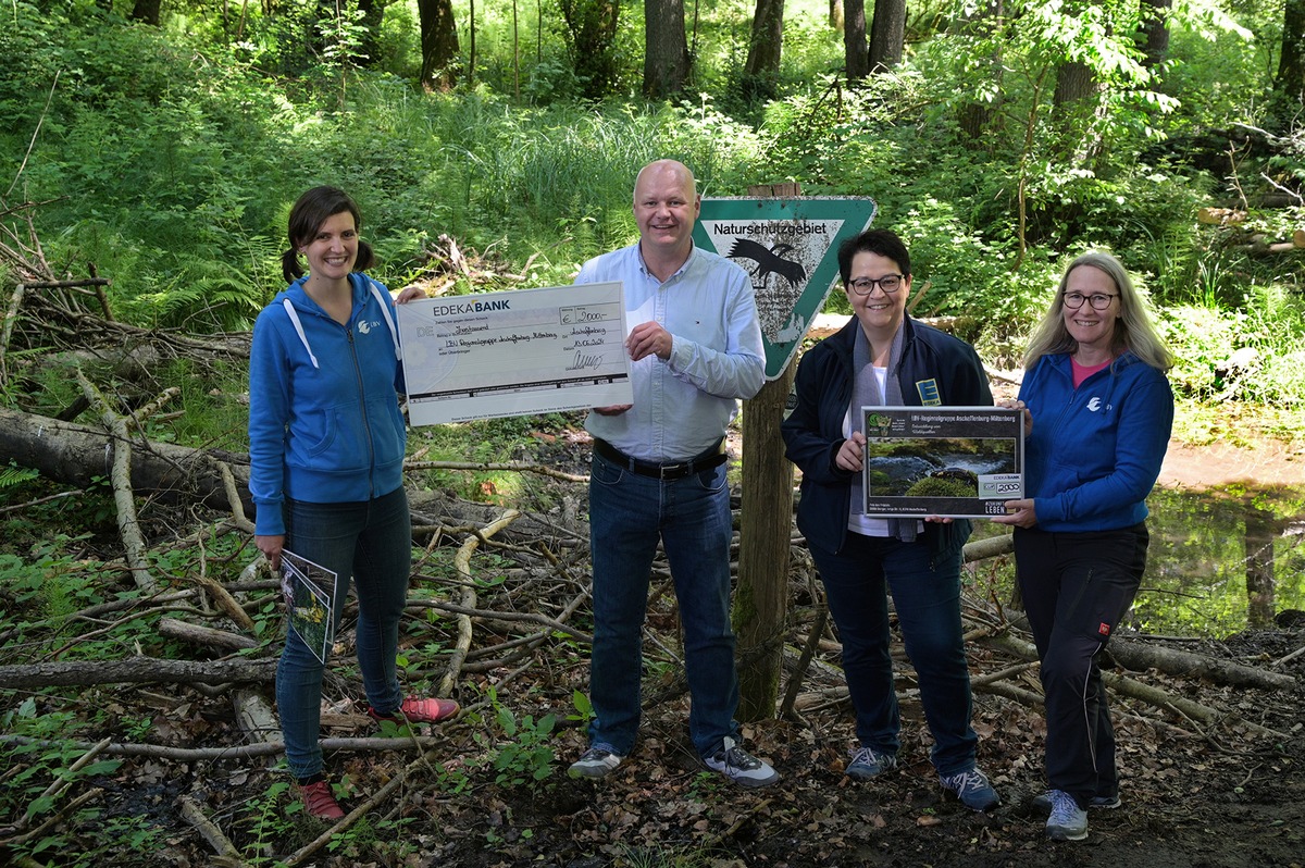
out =
[[689,735],[702,756],[739,737],[735,636],[729,628],[729,488],[724,466],[662,482],[594,456],[589,483],[594,563],[591,744],[634,748],[639,728],[643,616],[658,540],[666,548],[684,630],[693,705]]

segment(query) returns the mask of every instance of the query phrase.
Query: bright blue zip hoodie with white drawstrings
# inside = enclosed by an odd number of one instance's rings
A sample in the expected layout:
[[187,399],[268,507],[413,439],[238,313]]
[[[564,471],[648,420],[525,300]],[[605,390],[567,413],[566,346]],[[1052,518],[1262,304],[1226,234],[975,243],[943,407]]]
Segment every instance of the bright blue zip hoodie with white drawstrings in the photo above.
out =
[[249,493],[260,535],[286,533],[286,497],[359,503],[403,484],[394,302],[367,275],[350,274],[345,326],[308,298],[304,279],[278,292],[253,326]]

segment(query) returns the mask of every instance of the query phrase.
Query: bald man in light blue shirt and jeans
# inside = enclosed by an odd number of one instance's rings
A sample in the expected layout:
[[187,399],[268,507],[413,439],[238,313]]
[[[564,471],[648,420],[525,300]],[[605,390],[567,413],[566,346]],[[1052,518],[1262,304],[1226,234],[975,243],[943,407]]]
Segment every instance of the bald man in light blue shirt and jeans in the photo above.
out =
[[745,787],[779,779],[740,745],[739,676],[729,628],[729,488],[726,428],[765,381],[748,274],[693,245],[701,197],[675,161],[634,183],[639,241],[590,260],[577,283],[621,281],[634,402],[594,407],[590,548],[594,654],[590,748],[577,778],[602,778],[634,748],[642,627],[658,542],[675,580],[692,697],[689,734],[703,764]]

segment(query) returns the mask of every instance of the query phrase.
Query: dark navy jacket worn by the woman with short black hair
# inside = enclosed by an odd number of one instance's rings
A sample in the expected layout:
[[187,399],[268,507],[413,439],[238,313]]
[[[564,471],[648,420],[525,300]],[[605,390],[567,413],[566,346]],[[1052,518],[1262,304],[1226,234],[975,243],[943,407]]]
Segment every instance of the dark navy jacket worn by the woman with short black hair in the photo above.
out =
[[[797,529],[808,543],[838,552],[847,539],[855,473],[834,463],[843,445],[843,419],[852,402],[852,347],[856,317],[803,355],[795,390],[797,406],[780,427],[788,459],[803,471]],[[898,384],[908,406],[992,406],[992,392],[979,354],[964,341],[907,317]],[[937,399],[932,399],[933,389]],[[924,542],[936,551],[964,544],[971,525],[927,522]]]

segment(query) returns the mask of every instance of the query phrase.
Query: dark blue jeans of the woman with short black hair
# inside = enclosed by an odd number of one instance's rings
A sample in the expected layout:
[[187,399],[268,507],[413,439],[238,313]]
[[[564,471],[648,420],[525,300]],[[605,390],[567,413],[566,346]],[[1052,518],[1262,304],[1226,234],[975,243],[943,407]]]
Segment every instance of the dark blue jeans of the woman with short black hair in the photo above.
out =
[[975,765],[979,737],[970,726],[970,668],[960,628],[960,552],[940,555],[923,540],[847,533],[838,553],[812,547],[829,612],[843,642],[843,672],[856,709],[856,737],[876,753],[900,741],[887,591],[920,684],[938,774]]

